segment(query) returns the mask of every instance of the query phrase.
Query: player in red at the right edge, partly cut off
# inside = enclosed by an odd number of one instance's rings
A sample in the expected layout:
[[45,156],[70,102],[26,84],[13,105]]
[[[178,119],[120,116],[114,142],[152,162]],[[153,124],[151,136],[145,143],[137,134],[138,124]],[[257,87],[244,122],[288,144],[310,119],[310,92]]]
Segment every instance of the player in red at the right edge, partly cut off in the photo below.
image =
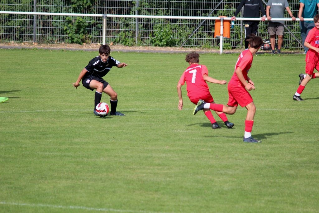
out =
[[311,79],[319,77],[318,72],[314,73],[315,69],[319,71],[319,15],[315,15],[314,22],[315,27],[309,31],[304,43],[305,47],[309,48],[306,53],[306,75],[299,74],[299,87],[293,95],[293,100],[295,101],[303,101],[300,94],[305,89],[307,83]]

